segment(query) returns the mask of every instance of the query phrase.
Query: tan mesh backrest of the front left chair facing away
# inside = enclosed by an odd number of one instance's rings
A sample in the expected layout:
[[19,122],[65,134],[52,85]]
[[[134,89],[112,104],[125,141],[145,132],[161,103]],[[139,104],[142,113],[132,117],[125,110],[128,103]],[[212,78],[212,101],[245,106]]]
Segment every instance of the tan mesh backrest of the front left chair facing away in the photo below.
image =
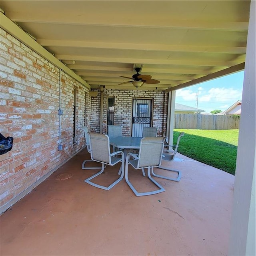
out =
[[108,135],[89,132],[91,159],[96,162],[110,163],[110,146]]

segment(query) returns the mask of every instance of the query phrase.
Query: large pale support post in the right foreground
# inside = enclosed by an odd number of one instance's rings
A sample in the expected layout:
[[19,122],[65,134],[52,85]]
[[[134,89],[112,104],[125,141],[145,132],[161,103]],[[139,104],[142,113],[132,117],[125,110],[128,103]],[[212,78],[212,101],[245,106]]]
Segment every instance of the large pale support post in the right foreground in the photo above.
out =
[[256,1],[251,1],[228,255],[256,255]]

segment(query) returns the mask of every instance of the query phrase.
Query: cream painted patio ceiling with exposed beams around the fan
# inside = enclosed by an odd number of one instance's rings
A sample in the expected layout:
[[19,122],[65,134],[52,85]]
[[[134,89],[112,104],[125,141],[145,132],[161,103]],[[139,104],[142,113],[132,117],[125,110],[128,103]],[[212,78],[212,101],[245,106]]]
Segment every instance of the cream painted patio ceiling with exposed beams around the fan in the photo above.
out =
[[0,8],[91,88],[166,92],[244,69],[250,1],[1,1]]

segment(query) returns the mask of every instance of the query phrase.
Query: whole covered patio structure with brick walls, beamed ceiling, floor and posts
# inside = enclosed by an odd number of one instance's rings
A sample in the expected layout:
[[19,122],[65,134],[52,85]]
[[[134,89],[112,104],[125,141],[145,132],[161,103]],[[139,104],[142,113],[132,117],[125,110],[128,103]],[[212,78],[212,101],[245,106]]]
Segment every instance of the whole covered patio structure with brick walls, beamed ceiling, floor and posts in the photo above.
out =
[[[0,132],[14,138],[0,156],[1,254],[255,255],[255,4],[1,0]],[[123,136],[134,99],[150,100],[150,126],[172,142],[176,90],[243,69],[235,179],[179,156],[182,179],[158,180],[161,194],[84,183],[81,128],[106,134],[108,99]]]

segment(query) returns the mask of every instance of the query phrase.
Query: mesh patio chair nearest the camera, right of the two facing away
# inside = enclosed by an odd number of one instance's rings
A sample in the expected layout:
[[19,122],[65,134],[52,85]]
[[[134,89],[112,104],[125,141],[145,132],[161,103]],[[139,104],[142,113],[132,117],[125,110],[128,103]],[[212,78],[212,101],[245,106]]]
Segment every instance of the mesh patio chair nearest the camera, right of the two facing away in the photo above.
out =
[[[150,171],[154,167],[158,167],[161,164],[162,153],[164,149],[164,141],[165,141],[165,137],[142,138],[140,141],[139,154],[138,155],[135,155],[132,153],[127,154],[126,164],[125,164],[125,180],[136,196],[148,196],[148,195],[158,194],[160,192],[165,191],[165,189],[158,182],[156,182],[151,177],[151,174],[150,174]],[[128,164],[130,164],[136,170],[142,169],[143,171],[143,168],[148,168],[148,178],[156,186],[158,186],[159,189],[149,191],[149,192],[139,193],[128,179]]]

